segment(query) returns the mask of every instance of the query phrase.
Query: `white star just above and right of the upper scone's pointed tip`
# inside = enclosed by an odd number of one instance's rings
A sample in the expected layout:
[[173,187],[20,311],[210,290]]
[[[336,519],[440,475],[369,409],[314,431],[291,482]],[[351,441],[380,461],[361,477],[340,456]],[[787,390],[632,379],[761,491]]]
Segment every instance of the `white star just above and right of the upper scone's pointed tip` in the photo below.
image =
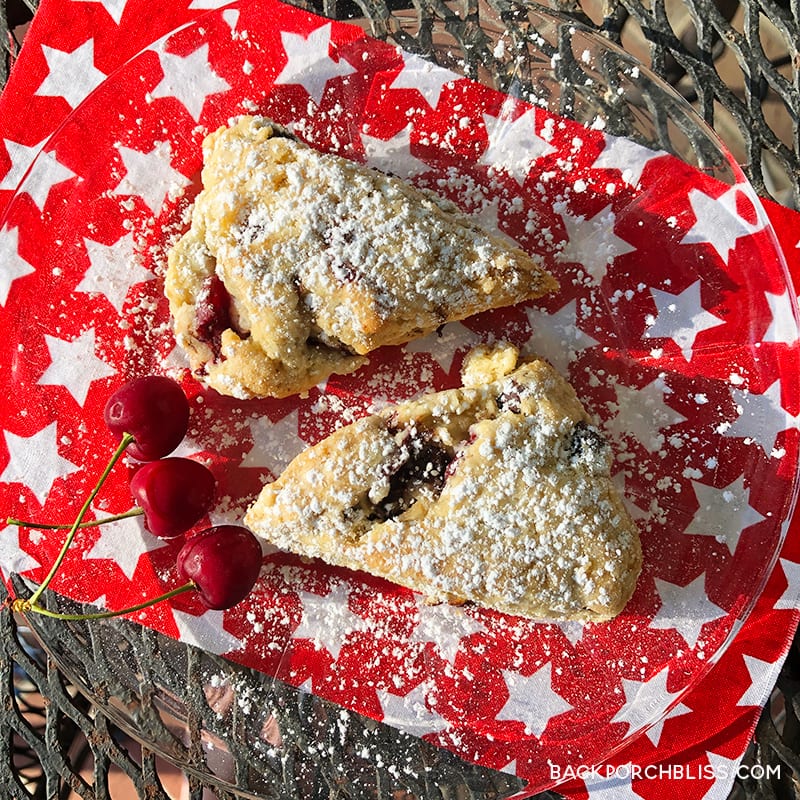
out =
[[617,217],[610,205],[588,219],[569,213],[561,214],[561,219],[567,231],[567,242],[558,254],[558,260],[580,264],[596,285],[619,256],[636,250],[614,233]]

